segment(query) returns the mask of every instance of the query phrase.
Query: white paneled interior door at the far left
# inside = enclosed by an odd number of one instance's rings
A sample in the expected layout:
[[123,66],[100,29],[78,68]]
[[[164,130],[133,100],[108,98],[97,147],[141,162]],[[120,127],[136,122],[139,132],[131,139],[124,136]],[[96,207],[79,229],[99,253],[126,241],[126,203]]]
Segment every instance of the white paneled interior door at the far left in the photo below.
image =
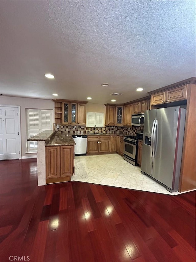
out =
[[0,106],[0,160],[18,159],[19,151],[18,108]]

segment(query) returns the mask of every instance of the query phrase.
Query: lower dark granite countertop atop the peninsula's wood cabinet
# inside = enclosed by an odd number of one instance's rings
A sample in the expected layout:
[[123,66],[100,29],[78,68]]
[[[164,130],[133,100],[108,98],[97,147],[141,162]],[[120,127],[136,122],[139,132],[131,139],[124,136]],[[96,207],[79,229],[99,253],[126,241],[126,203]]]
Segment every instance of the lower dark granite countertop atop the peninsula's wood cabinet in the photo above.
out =
[[46,144],[46,147],[54,146],[75,146],[76,143],[72,138],[71,134],[56,132],[54,136],[51,137],[50,141]]

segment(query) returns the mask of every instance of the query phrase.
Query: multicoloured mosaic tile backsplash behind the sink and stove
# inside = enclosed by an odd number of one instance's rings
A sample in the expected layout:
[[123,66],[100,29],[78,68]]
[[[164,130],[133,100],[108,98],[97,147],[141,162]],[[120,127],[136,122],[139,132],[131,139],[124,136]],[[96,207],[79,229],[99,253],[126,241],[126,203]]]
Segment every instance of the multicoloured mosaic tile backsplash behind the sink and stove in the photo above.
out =
[[[58,126],[58,128],[57,128]],[[66,132],[70,134],[84,134],[88,132],[94,132],[94,127],[86,127],[86,126],[70,126],[70,125],[60,125],[60,124],[54,124],[54,130]],[[105,127],[97,127],[96,131],[97,133],[120,133],[123,135],[136,135],[136,131],[143,130],[143,127],[111,127],[111,126],[105,126]]]

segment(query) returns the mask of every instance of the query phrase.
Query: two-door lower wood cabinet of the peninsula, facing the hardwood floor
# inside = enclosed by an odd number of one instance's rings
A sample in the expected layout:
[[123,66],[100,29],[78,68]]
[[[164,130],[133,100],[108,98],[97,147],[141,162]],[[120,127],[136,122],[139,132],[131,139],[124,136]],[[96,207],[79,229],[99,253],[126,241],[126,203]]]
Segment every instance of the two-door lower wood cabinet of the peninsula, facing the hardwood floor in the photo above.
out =
[[74,174],[74,146],[46,147],[46,184],[69,181]]

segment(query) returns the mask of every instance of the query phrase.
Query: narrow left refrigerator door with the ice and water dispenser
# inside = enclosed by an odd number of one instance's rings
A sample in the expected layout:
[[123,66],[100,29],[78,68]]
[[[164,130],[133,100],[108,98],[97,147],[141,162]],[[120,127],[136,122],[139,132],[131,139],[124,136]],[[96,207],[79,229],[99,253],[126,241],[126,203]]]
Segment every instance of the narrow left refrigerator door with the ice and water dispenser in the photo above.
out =
[[153,157],[151,156],[152,129],[156,119],[156,109],[147,110],[144,114],[144,135],[142,146],[141,171],[152,176]]

